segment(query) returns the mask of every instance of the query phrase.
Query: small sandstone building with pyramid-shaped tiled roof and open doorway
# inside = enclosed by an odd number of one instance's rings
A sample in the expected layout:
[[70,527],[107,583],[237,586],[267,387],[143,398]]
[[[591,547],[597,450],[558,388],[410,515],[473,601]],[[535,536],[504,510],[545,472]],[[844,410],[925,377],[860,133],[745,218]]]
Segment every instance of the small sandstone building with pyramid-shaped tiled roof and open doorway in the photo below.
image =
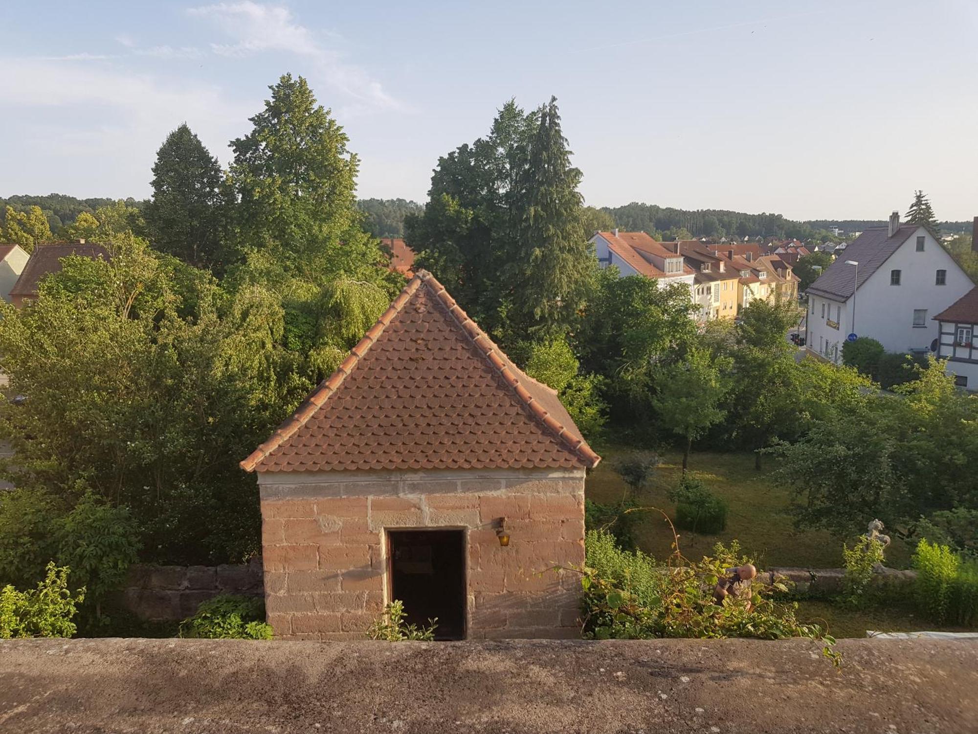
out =
[[421,270],[242,467],[257,472],[268,621],[362,638],[384,603],[443,639],[572,637],[584,476],[600,457]]

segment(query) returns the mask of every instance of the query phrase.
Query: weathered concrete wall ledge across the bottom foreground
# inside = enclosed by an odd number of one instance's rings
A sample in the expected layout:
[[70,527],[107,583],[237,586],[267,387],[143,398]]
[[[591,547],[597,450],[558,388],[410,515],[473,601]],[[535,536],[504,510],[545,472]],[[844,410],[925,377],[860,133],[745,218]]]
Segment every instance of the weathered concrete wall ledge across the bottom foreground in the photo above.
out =
[[978,641],[0,642],[0,731],[964,732]]

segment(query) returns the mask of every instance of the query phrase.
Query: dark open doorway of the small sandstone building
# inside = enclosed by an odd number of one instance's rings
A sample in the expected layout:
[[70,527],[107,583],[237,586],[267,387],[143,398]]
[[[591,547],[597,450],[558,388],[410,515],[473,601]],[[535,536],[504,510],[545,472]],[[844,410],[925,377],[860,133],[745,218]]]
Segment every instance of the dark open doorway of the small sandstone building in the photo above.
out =
[[465,530],[388,530],[391,599],[409,622],[438,619],[435,639],[466,636]]

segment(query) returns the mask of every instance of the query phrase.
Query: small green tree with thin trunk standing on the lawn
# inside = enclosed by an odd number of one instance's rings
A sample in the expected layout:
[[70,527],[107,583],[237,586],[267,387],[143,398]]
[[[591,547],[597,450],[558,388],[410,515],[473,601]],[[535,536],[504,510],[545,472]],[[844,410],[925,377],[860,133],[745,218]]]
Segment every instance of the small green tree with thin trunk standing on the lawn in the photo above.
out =
[[692,442],[727,414],[721,404],[729,389],[727,375],[732,366],[729,357],[714,357],[708,349],[693,346],[683,360],[655,371],[658,391],[652,405],[659,419],[674,434],[686,439],[684,472],[689,467]]

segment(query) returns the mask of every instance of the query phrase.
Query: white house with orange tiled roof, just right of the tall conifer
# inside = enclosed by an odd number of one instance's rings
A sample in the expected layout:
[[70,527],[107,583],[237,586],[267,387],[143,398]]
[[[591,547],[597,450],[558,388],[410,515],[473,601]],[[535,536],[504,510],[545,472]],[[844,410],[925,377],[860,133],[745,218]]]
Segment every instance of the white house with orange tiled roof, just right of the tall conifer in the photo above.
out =
[[661,243],[645,232],[597,232],[591,238],[601,267],[616,265],[621,277],[645,275],[664,285],[683,283],[693,295],[693,279],[696,272],[683,261],[681,243]]

